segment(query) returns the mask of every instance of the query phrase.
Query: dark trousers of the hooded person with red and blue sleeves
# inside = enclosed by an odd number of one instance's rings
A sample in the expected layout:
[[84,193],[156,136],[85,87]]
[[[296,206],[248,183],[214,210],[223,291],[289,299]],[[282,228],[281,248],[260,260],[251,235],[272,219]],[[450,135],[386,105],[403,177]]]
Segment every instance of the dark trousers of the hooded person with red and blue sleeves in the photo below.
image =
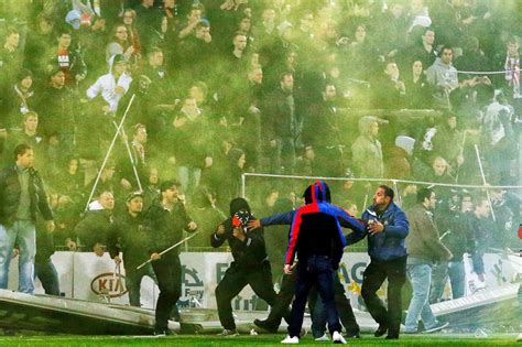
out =
[[317,285],[324,310],[328,322],[330,334],[342,329],[339,323],[339,314],[335,305],[334,269],[331,260],[326,256],[311,256],[297,264],[297,282],[295,285],[295,299],[292,304],[292,318],[289,326],[291,337],[300,337],[303,327],[303,316],[312,286]]

